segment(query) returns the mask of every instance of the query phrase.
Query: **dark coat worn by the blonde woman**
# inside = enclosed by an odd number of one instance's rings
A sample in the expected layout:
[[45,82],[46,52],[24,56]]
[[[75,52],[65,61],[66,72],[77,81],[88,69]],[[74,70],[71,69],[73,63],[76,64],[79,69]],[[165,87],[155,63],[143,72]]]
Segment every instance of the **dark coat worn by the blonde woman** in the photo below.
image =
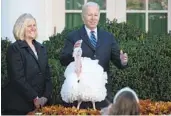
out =
[[33,99],[50,99],[52,81],[45,47],[33,40],[38,59],[26,41],[17,40],[7,51],[10,82],[2,90],[2,108],[29,112],[34,109]]

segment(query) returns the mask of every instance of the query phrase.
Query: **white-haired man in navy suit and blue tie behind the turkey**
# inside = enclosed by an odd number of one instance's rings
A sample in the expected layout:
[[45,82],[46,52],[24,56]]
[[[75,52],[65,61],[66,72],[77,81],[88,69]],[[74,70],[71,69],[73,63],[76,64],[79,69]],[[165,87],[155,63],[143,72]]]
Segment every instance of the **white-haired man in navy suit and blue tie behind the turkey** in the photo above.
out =
[[[97,27],[99,18],[100,9],[97,3],[88,2],[83,6],[82,19],[84,25],[79,30],[68,34],[60,56],[62,65],[67,66],[70,62],[74,61],[74,58],[72,57],[73,49],[81,46],[83,52],[82,57],[98,59],[99,64],[104,68],[104,71],[107,71],[108,73],[110,60],[120,69],[127,66],[128,56],[126,53],[120,51],[113,34]],[[80,40],[83,40],[82,44],[80,43]],[[106,87],[108,95],[104,101],[96,104],[97,108],[105,107],[109,102],[112,102],[113,97],[110,95],[110,77],[108,77],[108,84]]]

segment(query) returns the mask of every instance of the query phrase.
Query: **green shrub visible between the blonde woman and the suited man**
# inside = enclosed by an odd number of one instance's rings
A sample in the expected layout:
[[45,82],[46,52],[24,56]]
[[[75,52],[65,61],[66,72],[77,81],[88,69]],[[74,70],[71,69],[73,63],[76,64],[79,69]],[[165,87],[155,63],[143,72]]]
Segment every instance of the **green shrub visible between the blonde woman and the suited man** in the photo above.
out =
[[48,50],[49,64],[52,69],[52,82],[53,82],[53,104],[61,104],[62,99],[60,97],[61,86],[64,82],[64,69],[60,64],[59,55],[64,46],[64,40],[69,32],[78,29],[75,27],[73,29],[64,29],[62,33],[58,33],[55,36],[51,36],[49,41],[44,41],[43,45],[46,46]]

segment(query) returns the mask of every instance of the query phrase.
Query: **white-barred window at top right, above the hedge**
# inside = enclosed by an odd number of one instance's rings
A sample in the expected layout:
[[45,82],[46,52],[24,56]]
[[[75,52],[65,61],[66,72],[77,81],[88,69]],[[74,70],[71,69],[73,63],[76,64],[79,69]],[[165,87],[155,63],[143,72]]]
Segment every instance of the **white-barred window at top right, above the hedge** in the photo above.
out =
[[152,33],[167,33],[168,0],[126,0],[126,20]]

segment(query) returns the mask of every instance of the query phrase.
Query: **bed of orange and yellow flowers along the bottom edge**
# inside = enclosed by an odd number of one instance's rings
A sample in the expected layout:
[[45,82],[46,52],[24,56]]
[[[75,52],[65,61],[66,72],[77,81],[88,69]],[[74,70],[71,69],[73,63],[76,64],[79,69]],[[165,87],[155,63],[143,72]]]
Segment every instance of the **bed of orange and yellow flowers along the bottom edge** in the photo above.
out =
[[[171,102],[153,102],[151,100],[140,100],[141,115],[161,115],[171,114]],[[99,110],[80,109],[75,107],[65,108],[60,105],[46,106],[35,112],[41,112],[43,115],[100,115]],[[29,114],[34,114],[30,112]]]

